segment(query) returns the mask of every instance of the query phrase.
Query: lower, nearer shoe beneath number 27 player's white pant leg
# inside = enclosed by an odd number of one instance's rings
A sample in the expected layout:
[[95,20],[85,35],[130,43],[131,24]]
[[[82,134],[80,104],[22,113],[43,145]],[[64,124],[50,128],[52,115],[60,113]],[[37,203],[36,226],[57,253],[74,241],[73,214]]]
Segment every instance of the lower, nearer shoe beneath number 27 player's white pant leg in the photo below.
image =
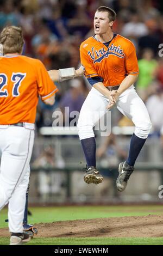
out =
[[22,245],[29,242],[31,237],[25,233],[11,233],[10,245]]

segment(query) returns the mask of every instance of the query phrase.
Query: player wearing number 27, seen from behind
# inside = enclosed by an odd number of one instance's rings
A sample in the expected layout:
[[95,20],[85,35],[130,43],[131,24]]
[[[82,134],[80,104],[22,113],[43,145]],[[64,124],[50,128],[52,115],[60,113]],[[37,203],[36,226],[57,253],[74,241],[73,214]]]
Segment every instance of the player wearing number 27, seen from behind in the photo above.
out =
[[40,60],[21,56],[21,28],[5,27],[0,44],[0,210],[9,203],[10,245],[21,245],[30,240],[23,233],[23,217],[38,95],[53,105],[58,89]]

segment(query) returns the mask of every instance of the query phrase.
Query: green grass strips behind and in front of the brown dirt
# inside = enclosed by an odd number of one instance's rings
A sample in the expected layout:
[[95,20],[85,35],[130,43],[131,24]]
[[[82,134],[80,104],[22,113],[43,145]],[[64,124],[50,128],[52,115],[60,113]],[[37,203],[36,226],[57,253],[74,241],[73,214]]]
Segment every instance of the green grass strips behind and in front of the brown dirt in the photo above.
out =
[[[56,206],[29,208],[32,216],[28,217],[30,224],[41,222],[55,222],[66,220],[80,220],[91,218],[109,218],[123,216],[157,215],[163,213],[163,205],[134,205],[134,206]],[[7,209],[0,212],[0,228],[8,227],[4,222],[7,218]],[[0,230],[1,234],[1,230]],[[7,237],[0,237],[0,245],[8,245]],[[154,238],[37,238],[36,236],[29,245],[163,245],[162,237]]]

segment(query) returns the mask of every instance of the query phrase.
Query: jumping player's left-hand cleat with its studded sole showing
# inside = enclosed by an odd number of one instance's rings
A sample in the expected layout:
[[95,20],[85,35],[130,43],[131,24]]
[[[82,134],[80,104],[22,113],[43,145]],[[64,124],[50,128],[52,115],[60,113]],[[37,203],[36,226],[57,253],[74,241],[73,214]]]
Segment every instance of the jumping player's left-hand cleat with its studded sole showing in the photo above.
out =
[[98,184],[103,181],[103,176],[99,173],[99,171],[94,166],[90,166],[86,168],[86,174],[84,175],[84,181],[87,184],[94,183]]

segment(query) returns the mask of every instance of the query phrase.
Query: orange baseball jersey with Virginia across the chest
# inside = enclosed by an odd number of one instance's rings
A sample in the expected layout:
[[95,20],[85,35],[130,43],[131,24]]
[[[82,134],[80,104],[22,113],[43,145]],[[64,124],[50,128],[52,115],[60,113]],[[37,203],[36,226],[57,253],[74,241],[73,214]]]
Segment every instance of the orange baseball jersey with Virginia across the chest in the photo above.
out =
[[80,59],[86,78],[90,81],[92,77],[100,77],[105,87],[118,86],[126,75],[139,74],[133,43],[118,34],[114,34],[109,47],[95,36],[86,39],[80,45]]

